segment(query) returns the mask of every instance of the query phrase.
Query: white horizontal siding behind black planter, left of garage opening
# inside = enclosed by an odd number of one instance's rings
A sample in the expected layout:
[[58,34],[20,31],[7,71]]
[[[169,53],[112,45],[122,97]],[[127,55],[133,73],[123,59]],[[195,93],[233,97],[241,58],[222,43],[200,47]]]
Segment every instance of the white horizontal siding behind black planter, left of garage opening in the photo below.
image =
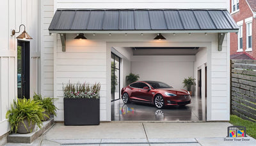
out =
[[[76,34],[67,35],[66,52],[62,52],[60,39],[54,50],[55,81],[57,98],[55,105],[59,108],[55,120],[63,121],[63,84],[68,82],[100,82],[100,120],[107,120],[106,111],[106,41],[74,40]],[[59,38],[59,37],[58,37]],[[109,55],[110,56],[110,55]]]

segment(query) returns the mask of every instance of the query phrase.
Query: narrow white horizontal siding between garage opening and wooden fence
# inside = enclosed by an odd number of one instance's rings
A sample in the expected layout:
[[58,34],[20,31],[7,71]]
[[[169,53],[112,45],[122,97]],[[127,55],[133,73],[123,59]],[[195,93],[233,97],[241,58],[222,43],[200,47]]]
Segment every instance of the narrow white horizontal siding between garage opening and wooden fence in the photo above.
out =
[[[229,34],[225,36],[222,51],[211,50],[211,120],[229,120],[230,115],[230,49]],[[218,42],[212,42],[212,48]]]

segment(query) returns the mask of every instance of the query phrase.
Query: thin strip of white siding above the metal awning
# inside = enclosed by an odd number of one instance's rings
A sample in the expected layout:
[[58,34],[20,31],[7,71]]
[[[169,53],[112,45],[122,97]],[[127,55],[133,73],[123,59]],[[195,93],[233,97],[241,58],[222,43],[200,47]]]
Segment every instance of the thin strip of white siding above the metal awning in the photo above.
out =
[[56,0],[56,8],[229,8],[228,0]]

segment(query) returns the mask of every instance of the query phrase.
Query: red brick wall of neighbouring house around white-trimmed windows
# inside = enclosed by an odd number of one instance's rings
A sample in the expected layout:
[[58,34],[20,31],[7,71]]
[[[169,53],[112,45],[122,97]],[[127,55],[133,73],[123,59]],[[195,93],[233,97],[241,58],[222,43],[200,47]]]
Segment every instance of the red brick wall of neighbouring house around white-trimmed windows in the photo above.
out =
[[[232,0],[230,0],[230,11],[232,9]],[[239,11],[232,14],[232,17],[236,22],[243,20],[243,52],[246,50],[246,23],[244,20],[249,17],[253,17],[252,10],[248,6],[246,0],[239,0]],[[251,55],[254,59],[256,58],[256,20],[253,18],[252,21],[252,51],[246,52],[247,54]],[[230,55],[237,53],[238,41],[237,41],[237,34],[230,33]]]

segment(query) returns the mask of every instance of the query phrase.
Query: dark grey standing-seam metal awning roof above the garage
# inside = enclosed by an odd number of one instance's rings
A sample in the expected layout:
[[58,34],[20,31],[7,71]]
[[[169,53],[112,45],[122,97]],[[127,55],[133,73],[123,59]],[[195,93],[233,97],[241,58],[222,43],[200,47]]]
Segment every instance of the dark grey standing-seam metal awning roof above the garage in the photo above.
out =
[[227,10],[57,10],[49,33],[237,32]]

